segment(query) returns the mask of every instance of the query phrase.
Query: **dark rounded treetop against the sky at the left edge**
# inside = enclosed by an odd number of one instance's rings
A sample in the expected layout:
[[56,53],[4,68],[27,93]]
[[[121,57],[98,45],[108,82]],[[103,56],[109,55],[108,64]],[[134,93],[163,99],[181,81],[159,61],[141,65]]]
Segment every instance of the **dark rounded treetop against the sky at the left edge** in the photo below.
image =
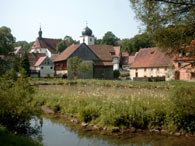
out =
[[0,27],[0,55],[13,52],[14,42],[15,38],[11,34],[11,29],[5,26]]

